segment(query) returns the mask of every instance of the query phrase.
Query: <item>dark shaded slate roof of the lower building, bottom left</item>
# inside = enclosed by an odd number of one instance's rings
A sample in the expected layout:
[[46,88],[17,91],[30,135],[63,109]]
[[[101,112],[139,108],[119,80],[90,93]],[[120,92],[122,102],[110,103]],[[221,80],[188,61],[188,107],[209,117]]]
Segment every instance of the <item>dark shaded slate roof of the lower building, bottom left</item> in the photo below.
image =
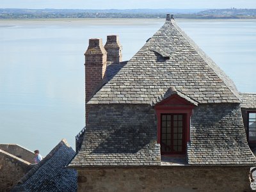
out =
[[65,168],[75,154],[67,141],[61,140],[19,180],[12,191],[76,191],[77,172]]

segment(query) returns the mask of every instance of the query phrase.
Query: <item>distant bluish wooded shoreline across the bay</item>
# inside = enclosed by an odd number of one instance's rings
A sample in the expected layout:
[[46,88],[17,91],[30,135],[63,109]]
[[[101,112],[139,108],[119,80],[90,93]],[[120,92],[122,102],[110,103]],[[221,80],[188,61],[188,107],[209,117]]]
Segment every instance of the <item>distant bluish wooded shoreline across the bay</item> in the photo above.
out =
[[136,10],[61,10],[61,9],[0,9],[0,19],[37,18],[164,18],[172,13],[175,18],[240,19],[256,18],[255,9],[136,9]]

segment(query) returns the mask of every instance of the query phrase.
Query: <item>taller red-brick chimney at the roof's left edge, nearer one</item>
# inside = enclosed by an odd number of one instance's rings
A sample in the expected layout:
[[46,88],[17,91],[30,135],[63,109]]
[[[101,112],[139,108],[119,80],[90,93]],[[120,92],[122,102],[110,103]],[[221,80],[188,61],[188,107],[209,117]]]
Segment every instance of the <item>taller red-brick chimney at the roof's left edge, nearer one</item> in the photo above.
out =
[[99,90],[105,77],[107,66],[107,52],[102,45],[101,38],[91,38],[85,56],[85,108],[86,122],[88,122],[89,106],[86,103]]

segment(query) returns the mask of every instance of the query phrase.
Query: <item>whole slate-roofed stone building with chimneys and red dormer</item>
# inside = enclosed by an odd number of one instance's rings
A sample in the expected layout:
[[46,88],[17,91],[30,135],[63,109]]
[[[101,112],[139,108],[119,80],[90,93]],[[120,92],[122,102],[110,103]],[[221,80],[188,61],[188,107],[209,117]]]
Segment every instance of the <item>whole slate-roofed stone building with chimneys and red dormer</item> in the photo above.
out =
[[78,191],[250,191],[243,94],[173,15],[128,62],[108,40],[85,53],[86,128],[68,165]]

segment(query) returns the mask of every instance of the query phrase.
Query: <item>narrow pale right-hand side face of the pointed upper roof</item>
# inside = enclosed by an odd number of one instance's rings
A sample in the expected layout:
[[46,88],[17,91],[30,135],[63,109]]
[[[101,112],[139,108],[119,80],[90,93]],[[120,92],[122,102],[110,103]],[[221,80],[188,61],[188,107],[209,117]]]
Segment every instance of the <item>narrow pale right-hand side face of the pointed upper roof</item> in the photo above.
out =
[[[234,96],[241,102],[241,98],[239,97],[239,93],[237,91],[236,84],[234,84],[232,79],[230,79],[230,77],[228,77],[227,74],[225,74],[225,72],[218,65],[216,65],[216,63],[209,56],[207,56],[207,54],[205,54],[205,52],[202,49],[200,49],[200,47],[182,29],[179,28],[179,26],[176,24],[174,19],[172,20],[172,24],[180,32],[180,35],[182,35],[186,40],[188,40],[189,45],[191,45],[196,50],[198,55],[205,61],[205,63],[207,63],[208,65],[210,64],[209,67],[212,68],[212,70],[214,71],[216,76],[218,76],[223,81],[223,83],[227,86],[227,88],[230,90],[230,92],[232,92],[234,94]],[[208,61],[208,62],[206,62],[206,61]],[[216,71],[216,68],[222,74],[218,74],[218,72]],[[230,88],[230,86],[228,85],[226,80],[223,79],[223,77],[227,78],[227,80],[230,81],[230,83],[232,83],[232,85],[234,85],[234,89],[236,90],[237,93],[234,92],[233,88]]]

